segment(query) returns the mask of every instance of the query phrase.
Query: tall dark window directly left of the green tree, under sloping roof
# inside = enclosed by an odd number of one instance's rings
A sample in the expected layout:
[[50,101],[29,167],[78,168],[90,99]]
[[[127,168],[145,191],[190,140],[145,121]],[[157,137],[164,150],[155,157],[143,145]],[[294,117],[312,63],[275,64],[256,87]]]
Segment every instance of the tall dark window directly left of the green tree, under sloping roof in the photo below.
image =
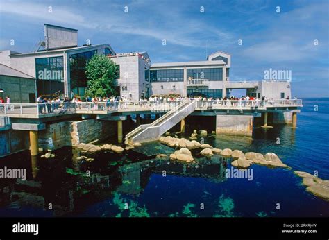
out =
[[85,76],[85,66],[87,61],[96,54],[96,50],[77,53],[69,56],[69,70],[71,91],[74,94],[84,95],[87,87],[87,77]]

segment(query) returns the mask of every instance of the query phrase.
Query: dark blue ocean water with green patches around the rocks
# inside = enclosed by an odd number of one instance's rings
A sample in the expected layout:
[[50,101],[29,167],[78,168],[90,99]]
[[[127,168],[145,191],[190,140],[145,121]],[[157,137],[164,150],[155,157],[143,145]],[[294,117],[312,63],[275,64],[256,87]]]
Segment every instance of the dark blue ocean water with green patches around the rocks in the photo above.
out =
[[96,153],[93,162],[76,160],[81,153],[72,148],[56,151],[54,160],[23,152],[0,159],[0,168],[28,169],[26,181],[1,179],[0,216],[328,217],[329,201],[305,191],[293,171],[329,180],[329,99],[303,105],[296,129],[255,126],[253,137],[205,138],[217,148],[276,153],[289,169],[253,164],[252,180],[226,178],[231,160],[198,151],[195,164],[159,160],[154,155],[174,149],[158,142],[124,155]]

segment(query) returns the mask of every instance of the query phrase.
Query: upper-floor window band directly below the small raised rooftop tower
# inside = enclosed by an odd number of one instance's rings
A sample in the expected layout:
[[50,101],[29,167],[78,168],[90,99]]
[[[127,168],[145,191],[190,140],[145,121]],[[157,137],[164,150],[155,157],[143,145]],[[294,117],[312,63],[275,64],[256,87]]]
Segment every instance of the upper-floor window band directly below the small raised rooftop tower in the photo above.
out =
[[208,69],[187,69],[187,79],[208,79],[211,81],[223,80],[222,68],[208,68]]

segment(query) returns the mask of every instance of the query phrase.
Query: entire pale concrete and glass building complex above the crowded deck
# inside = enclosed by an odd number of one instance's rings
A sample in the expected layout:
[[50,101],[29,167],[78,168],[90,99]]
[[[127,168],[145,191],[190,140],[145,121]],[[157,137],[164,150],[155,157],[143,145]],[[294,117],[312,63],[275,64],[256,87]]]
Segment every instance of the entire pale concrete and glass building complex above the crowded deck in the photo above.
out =
[[[36,94],[85,95],[85,66],[93,55],[107,55],[119,67],[117,87],[124,99],[152,95],[230,97],[233,89],[248,96],[291,97],[289,80],[230,81],[231,55],[218,51],[206,60],[153,63],[148,53],[115,53],[109,44],[78,46],[78,30],[44,24],[44,41],[31,53],[0,51],[0,63],[36,79]],[[40,48],[42,49],[40,50]]]

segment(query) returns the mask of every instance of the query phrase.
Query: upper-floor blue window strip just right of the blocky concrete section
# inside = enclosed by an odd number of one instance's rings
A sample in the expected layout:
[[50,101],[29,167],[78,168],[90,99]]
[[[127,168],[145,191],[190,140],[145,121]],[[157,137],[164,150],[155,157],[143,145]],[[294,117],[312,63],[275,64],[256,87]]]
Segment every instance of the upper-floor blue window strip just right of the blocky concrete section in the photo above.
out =
[[151,82],[183,82],[183,69],[150,70]]

